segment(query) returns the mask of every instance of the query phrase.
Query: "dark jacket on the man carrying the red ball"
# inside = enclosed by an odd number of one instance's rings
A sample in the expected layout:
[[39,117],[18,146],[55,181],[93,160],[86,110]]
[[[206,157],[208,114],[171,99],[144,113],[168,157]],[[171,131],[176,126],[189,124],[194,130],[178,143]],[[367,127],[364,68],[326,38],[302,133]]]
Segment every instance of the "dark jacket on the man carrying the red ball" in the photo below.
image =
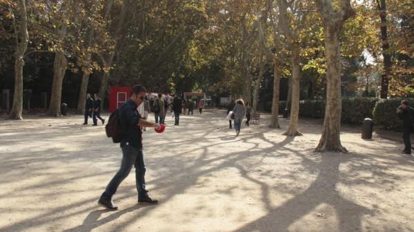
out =
[[142,131],[138,126],[139,118],[141,116],[134,101],[129,99],[119,108],[119,122],[122,129],[121,147],[131,145],[137,149],[142,148]]

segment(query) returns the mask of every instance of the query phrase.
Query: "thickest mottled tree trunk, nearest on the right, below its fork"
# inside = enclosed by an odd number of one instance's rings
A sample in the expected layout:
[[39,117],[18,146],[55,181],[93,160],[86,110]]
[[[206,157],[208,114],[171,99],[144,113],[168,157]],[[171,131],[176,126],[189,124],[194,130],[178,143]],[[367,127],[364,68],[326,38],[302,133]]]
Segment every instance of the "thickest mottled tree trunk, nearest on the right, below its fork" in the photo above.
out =
[[341,53],[339,50],[339,30],[337,26],[325,27],[326,48],[326,109],[322,138],[315,151],[347,152],[342,147],[341,134]]

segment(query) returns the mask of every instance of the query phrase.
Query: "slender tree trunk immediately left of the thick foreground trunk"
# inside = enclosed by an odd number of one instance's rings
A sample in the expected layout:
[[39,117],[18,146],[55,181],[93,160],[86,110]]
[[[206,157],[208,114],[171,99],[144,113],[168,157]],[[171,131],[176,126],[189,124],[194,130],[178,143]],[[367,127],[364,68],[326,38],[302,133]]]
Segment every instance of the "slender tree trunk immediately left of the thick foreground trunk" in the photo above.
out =
[[299,45],[292,45],[292,95],[290,103],[290,120],[288,130],[284,133],[286,136],[302,136],[297,131],[297,122],[299,120],[299,85],[300,85],[300,63],[299,63]]

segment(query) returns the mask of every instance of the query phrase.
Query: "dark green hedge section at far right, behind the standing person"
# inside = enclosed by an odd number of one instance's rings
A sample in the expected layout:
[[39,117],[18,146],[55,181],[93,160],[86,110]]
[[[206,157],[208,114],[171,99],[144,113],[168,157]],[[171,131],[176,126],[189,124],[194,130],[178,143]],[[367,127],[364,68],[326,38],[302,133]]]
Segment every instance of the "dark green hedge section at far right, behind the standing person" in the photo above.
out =
[[408,101],[408,105],[413,105],[414,103],[413,98],[393,98],[377,101],[373,111],[375,124],[382,126],[384,129],[400,131],[402,121],[397,117],[397,107],[401,105],[402,100]]

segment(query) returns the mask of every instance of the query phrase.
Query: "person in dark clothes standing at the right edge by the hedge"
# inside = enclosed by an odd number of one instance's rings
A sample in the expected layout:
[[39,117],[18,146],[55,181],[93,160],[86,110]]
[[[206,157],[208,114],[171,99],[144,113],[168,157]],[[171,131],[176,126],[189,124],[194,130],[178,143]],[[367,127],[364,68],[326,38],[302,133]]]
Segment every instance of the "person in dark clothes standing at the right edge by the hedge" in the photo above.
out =
[[411,154],[411,133],[413,132],[414,109],[408,106],[407,101],[402,101],[397,109],[398,117],[402,120],[402,140],[404,140],[403,154]]

